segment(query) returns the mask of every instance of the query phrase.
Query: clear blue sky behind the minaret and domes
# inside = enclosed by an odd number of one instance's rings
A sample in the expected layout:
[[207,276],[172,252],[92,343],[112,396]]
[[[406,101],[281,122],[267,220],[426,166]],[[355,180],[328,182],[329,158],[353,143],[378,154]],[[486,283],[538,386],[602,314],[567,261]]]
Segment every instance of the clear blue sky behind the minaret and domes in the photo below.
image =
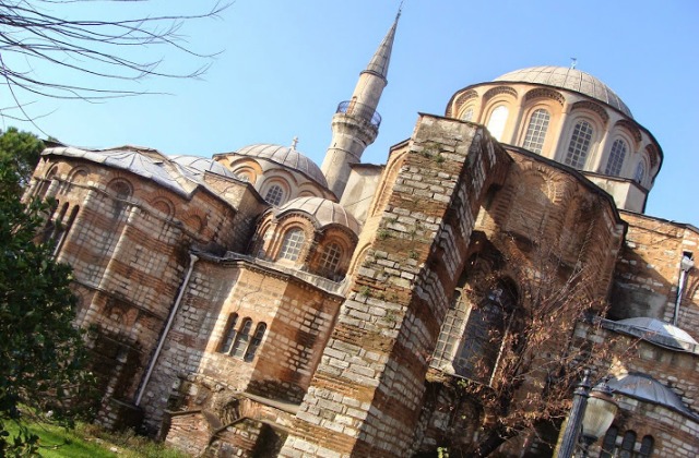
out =
[[[177,12],[192,3],[206,1],[118,8]],[[35,97],[31,109],[48,113],[37,121],[45,132],[76,146],[211,156],[251,143],[288,145],[297,135],[298,149],[320,164],[336,104],[351,96],[398,4],[237,0],[218,20],[182,29],[193,49],[222,51],[202,80],[151,79],[134,88],[171,95],[102,104]],[[99,2],[81,8],[82,16],[121,11]],[[578,69],[612,87],[663,148],[647,213],[699,226],[699,148],[691,140],[699,134],[697,23],[696,0],[406,0],[379,105],[383,123],[364,160],[383,162],[389,146],[411,135],[418,111],[443,114],[461,87],[525,67],[567,67],[576,57]],[[176,71],[198,62],[168,53],[164,65]]]

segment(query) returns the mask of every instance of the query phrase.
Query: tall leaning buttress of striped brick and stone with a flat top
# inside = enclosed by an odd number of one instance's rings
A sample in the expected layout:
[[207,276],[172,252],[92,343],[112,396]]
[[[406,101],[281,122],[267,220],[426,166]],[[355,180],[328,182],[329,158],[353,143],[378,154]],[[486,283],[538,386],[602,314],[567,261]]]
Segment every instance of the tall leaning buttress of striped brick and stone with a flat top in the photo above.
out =
[[509,158],[422,116],[282,456],[406,456],[481,198]]

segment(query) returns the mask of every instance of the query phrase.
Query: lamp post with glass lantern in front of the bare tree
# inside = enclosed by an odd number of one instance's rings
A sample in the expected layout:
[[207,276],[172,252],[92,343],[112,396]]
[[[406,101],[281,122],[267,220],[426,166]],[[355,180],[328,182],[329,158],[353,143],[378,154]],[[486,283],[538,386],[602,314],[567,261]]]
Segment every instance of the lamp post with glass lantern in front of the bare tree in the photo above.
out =
[[582,438],[582,456],[587,457],[590,445],[602,437],[614,421],[617,403],[612,397],[612,389],[606,379],[592,390],[590,386],[590,371],[585,370],[582,381],[573,393],[568,425],[564,432],[557,458],[572,457],[580,438]]

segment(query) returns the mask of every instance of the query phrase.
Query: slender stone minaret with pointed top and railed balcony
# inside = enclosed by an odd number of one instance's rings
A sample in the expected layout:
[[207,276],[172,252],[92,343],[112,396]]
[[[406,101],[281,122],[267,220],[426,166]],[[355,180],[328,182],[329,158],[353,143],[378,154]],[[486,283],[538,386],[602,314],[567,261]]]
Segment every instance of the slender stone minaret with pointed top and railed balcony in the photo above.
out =
[[400,17],[399,10],[391,29],[386,34],[366,70],[359,74],[352,99],[341,103],[332,118],[332,141],[321,170],[328,180],[328,186],[337,198],[342,196],[347,185],[350,165],[359,162],[362,154],[374,143],[379,133],[381,117],[376,111],[376,107],[388,84],[386,77]]

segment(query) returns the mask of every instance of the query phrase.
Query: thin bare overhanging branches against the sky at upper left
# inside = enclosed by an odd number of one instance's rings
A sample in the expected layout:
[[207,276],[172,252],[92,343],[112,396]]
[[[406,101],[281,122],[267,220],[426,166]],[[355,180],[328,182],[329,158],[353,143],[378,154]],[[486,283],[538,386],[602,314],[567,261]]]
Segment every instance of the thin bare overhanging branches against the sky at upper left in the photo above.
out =
[[[134,16],[127,19],[104,17],[104,12],[100,17],[97,10],[98,3],[123,3],[117,7],[129,14],[134,3],[149,1],[0,0],[0,82],[12,100],[9,106],[0,106],[0,116],[35,119],[26,111],[33,96],[102,100],[143,94],[129,83],[146,76],[192,79],[203,74],[215,55],[190,49],[181,35],[182,25],[216,17],[230,3],[215,1],[210,9],[193,14],[173,11],[139,16],[132,10]],[[92,17],[75,17],[76,3],[95,3],[81,10],[81,14],[95,11]],[[134,48],[145,57],[135,57]],[[165,48],[201,62],[182,73],[163,70],[163,58],[154,55]]]

